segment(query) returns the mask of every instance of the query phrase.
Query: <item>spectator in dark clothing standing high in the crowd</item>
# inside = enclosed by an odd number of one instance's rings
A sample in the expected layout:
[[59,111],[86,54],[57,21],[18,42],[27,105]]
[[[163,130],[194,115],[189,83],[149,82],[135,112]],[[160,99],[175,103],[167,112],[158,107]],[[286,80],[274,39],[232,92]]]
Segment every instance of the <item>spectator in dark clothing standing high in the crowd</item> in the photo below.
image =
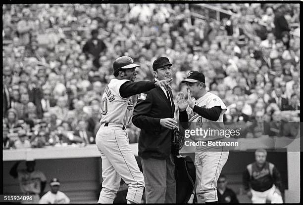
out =
[[97,29],[92,30],[91,34],[92,38],[83,46],[83,52],[86,54],[87,58],[93,58],[94,66],[99,68],[101,66],[99,58],[101,53],[106,50],[106,45],[101,39],[98,39],[99,32]]

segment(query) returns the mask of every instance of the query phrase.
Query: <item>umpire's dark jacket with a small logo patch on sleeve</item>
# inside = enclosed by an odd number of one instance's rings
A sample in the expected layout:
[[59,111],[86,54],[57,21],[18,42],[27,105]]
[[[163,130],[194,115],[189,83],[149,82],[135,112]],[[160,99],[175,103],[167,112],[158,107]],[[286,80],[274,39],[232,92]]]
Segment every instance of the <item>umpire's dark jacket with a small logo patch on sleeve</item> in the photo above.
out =
[[[169,91],[172,97],[171,91]],[[141,128],[139,137],[139,157],[144,159],[167,159],[171,153],[171,129],[162,127],[160,119],[174,118],[172,105],[159,87],[138,95],[132,122]],[[139,97],[140,96],[140,97]],[[145,98],[145,99],[144,99]]]

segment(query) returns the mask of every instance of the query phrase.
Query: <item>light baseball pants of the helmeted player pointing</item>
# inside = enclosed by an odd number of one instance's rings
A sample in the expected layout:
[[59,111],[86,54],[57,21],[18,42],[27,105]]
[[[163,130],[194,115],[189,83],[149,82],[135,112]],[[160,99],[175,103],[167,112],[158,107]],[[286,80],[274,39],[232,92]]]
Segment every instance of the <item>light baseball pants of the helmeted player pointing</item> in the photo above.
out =
[[[111,123],[110,123],[111,124]],[[144,177],[129,146],[128,134],[122,125],[101,125],[96,145],[102,159],[102,190],[98,203],[112,204],[121,178],[128,185],[126,200],[141,203]]]

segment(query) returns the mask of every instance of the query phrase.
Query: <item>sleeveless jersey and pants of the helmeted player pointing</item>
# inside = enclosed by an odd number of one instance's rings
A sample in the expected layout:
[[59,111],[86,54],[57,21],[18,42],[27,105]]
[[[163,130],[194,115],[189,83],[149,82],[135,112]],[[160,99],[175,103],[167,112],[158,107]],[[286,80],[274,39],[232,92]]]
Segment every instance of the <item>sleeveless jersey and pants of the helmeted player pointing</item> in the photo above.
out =
[[120,87],[129,80],[112,79],[102,95],[101,126],[96,145],[102,159],[102,190],[98,203],[112,204],[121,178],[128,185],[126,199],[141,203],[144,177],[129,146],[125,127],[133,115],[132,98],[123,98]]

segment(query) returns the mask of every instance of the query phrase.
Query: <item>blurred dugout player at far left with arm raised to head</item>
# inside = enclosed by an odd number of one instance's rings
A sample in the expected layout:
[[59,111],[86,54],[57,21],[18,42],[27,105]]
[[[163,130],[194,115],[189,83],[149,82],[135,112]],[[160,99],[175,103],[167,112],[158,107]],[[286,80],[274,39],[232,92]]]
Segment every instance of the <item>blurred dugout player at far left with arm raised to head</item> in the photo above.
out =
[[19,180],[20,189],[24,195],[33,195],[33,204],[37,204],[40,195],[46,186],[46,176],[43,172],[35,170],[35,161],[26,161],[26,169],[17,170],[20,162],[16,162],[10,169],[9,174]]

